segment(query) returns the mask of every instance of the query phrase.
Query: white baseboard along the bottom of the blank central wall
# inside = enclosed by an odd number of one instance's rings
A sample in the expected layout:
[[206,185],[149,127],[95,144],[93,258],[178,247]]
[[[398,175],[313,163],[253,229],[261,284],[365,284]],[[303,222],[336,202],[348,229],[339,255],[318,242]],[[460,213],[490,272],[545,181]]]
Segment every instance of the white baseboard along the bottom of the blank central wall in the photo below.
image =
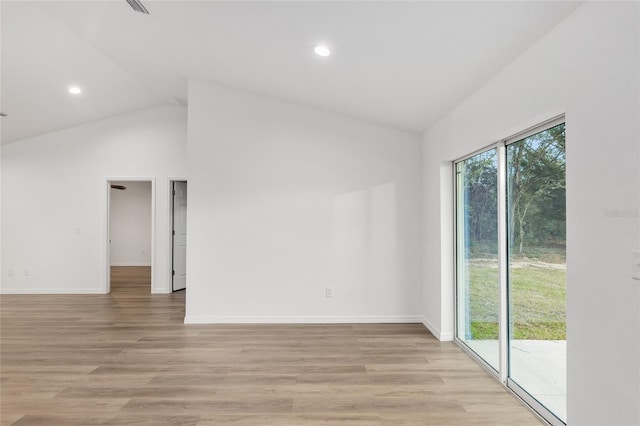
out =
[[187,316],[185,324],[371,324],[422,323],[419,315],[399,316]]

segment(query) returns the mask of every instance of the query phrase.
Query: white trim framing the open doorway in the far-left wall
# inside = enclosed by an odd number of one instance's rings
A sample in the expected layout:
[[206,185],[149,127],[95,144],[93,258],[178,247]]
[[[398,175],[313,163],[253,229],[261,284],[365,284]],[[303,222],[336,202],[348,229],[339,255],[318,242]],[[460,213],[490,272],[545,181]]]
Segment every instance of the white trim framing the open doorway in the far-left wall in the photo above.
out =
[[103,187],[105,191],[106,208],[104,211],[103,245],[104,253],[104,281],[102,291],[104,294],[111,292],[111,244],[109,236],[111,233],[111,182],[151,182],[151,286],[149,293],[153,293],[156,284],[156,178],[153,176],[107,176],[104,178]]

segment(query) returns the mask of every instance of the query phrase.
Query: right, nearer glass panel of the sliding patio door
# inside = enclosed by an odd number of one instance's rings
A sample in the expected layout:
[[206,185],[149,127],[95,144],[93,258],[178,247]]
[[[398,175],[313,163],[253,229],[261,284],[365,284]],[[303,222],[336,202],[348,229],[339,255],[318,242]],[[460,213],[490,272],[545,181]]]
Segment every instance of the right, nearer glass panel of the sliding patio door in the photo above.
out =
[[508,376],[566,422],[565,126],[506,152]]

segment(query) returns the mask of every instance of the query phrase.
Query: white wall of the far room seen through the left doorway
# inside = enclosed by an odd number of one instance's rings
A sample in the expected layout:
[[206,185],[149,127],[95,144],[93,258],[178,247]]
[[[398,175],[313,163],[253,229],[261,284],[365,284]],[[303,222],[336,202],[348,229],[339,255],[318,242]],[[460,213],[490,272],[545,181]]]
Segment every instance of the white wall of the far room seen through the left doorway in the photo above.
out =
[[109,260],[111,266],[151,266],[151,182],[113,181]]

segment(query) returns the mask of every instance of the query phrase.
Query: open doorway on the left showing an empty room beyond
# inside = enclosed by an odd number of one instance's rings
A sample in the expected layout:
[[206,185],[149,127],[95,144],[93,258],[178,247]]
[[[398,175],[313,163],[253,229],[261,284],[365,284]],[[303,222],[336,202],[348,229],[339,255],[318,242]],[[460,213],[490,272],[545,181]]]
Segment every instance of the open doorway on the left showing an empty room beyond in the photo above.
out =
[[105,293],[151,293],[154,197],[152,179],[107,180]]

